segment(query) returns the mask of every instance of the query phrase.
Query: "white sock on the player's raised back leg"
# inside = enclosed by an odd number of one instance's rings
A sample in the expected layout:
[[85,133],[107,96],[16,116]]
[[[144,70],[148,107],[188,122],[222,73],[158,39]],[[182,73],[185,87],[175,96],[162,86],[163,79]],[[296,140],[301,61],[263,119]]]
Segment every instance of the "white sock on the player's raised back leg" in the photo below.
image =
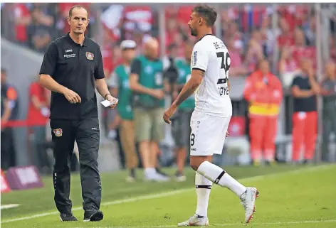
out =
[[243,192],[246,191],[246,187],[238,183],[237,180],[231,177],[229,173],[226,173],[222,168],[210,163],[209,161],[204,161],[199,165],[197,172],[204,177],[211,180],[213,183],[220,185],[221,187],[229,188],[238,197],[241,197]]

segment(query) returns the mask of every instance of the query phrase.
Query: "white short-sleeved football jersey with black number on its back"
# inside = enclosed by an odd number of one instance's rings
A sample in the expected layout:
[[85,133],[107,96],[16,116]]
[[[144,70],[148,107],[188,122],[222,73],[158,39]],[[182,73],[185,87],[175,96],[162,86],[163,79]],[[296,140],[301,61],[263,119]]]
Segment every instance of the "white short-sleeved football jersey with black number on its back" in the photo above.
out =
[[192,50],[191,69],[205,72],[201,85],[195,91],[195,110],[213,116],[232,116],[228,79],[229,50],[214,35],[206,35]]

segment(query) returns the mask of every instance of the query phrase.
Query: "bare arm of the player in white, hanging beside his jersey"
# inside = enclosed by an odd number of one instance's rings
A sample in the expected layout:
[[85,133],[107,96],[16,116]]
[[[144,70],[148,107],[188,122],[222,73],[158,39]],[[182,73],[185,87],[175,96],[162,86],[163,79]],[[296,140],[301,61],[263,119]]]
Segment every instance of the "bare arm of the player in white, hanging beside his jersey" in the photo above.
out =
[[194,94],[195,90],[201,85],[204,77],[203,70],[192,70],[190,80],[184,85],[182,91],[173,102],[172,106],[164,112],[163,119],[167,124],[170,124],[170,117],[176,112],[177,107],[182,104],[188,97]]

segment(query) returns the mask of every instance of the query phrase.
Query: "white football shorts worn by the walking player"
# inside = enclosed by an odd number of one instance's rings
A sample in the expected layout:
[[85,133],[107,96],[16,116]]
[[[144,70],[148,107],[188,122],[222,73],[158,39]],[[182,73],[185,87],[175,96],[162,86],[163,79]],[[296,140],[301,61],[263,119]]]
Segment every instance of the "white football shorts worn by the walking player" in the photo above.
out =
[[219,117],[194,111],[190,119],[190,155],[221,154],[231,116]]

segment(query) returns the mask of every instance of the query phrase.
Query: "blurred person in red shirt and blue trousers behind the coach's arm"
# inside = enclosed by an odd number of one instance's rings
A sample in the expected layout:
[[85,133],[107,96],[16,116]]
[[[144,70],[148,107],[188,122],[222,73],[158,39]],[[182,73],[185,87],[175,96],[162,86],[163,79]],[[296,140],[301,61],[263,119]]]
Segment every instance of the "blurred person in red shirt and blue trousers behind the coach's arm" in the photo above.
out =
[[36,160],[37,167],[42,173],[51,172],[51,165],[46,154],[46,123],[49,117],[50,94],[37,81],[29,87],[29,104],[27,123],[30,133],[33,134],[31,141],[31,153]]

